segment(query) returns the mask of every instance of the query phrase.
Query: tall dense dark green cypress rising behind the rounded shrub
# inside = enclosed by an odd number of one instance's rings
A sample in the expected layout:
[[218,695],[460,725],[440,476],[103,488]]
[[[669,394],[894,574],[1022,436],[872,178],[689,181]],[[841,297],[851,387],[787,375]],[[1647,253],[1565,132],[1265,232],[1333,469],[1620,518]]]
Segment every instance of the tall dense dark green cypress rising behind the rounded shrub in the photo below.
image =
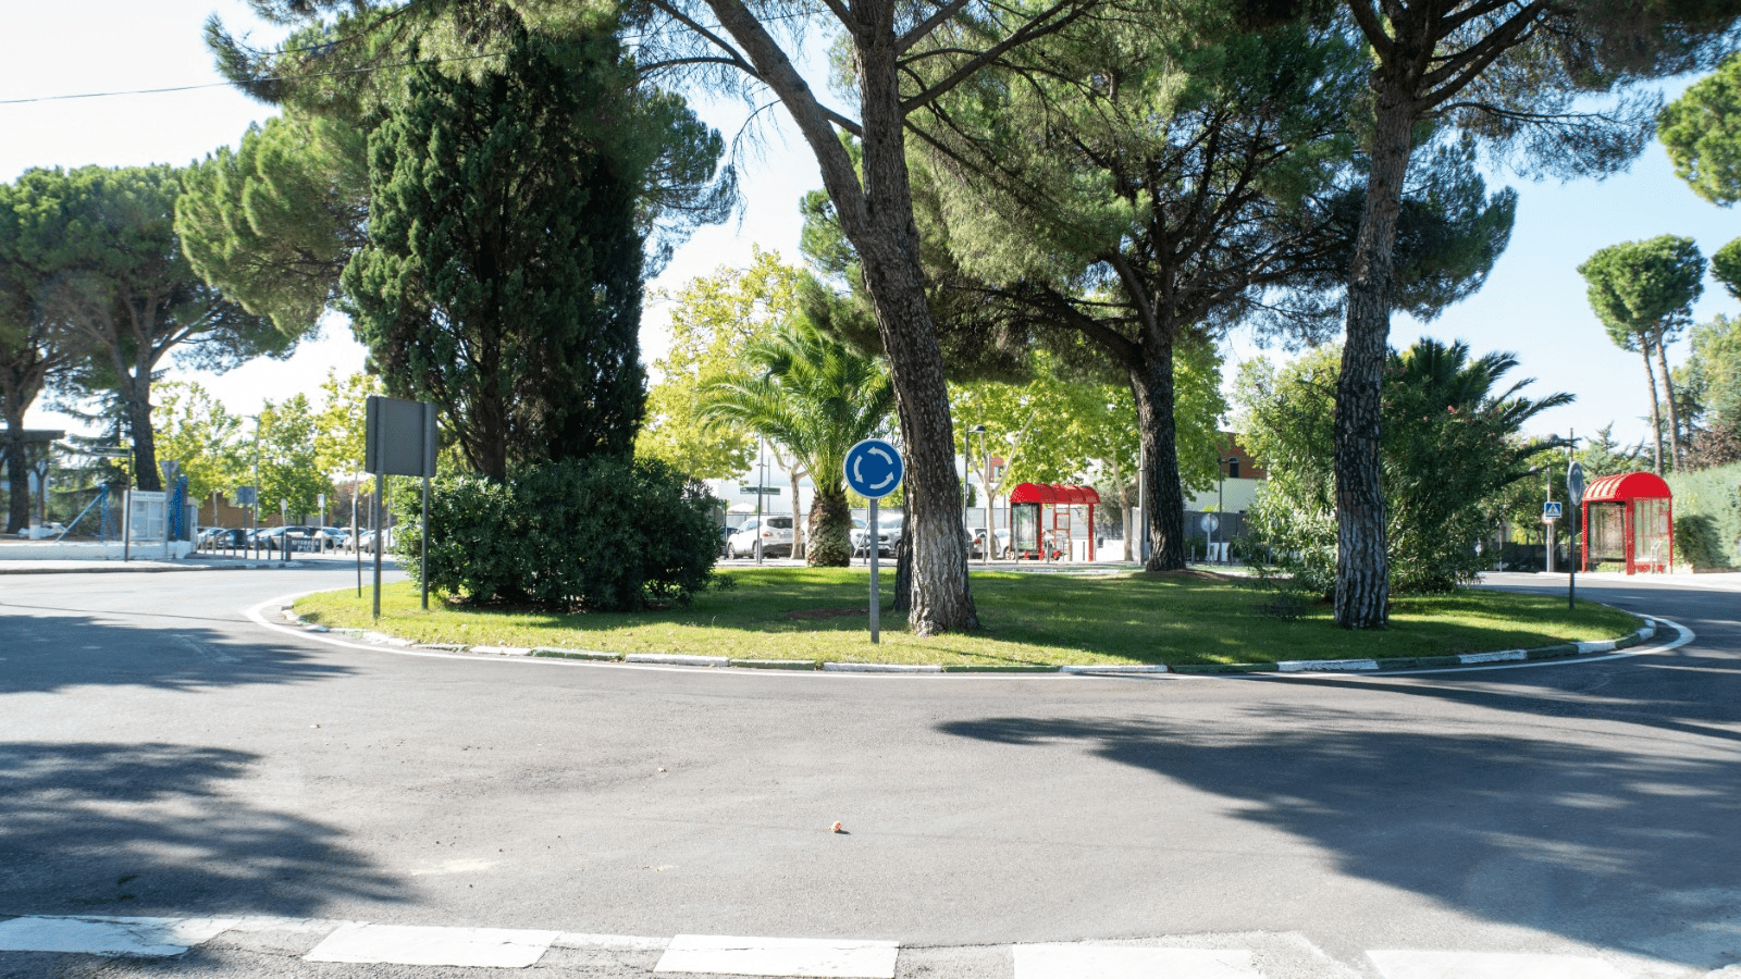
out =
[[639,200],[674,146],[719,155],[679,101],[635,91],[613,38],[524,33],[475,78],[416,71],[371,134],[369,244],[343,277],[355,331],[477,472],[632,453]]

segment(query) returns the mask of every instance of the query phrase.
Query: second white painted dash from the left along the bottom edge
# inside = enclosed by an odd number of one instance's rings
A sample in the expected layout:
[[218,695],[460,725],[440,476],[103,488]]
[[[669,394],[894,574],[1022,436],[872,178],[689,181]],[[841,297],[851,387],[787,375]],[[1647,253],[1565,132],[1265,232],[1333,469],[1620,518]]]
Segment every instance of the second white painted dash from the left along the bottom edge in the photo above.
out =
[[517,928],[430,928],[418,925],[343,925],[305,962],[454,965],[529,969],[561,932]]

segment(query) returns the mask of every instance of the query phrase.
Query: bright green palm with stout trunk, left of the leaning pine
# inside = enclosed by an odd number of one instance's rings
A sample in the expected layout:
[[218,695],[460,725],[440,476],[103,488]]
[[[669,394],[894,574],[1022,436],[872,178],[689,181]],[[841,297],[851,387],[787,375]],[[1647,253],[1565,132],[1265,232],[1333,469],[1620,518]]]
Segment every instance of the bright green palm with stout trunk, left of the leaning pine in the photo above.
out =
[[813,568],[844,568],[853,554],[846,451],[883,430],[895,409],[895,387],[876,361],[829,340],[806,321],[752,341],[743,357],[754,366],[752,375],[710,385],[702,394],[700,415],[743,425],[797,460],[817,484],[804,561]]

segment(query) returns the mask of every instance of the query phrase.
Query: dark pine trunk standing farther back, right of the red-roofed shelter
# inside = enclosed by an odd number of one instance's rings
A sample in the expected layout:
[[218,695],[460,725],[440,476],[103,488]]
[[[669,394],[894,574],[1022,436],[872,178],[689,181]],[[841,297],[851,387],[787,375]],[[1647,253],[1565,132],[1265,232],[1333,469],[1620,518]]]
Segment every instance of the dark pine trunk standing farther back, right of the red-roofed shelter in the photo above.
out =
[[1179,571],[1186,566],[1186,496],[1179,481],[1179,427],[1173,420],[1173,345],[1144,343],[1140,361],[1130,371],[1130,390],[1137,397],[1137,430],[1142,439],[1147,512],[1142,514],[1149,535],[1146,571]]

